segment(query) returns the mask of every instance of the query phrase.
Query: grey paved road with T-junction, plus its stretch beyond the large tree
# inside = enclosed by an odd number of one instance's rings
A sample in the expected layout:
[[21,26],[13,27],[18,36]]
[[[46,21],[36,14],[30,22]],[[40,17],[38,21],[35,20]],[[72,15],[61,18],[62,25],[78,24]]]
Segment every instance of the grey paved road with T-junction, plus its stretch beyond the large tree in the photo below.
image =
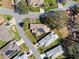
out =
[[[73,2],[73,4],[76,4],[76,3]],[[57,8],[57,9],[52,9],[52,10],[64,10],[71,5],[72,4],[69,4],[69,5],[64,6],[61,9]],[[9,15],[12,15],[13,17],[15,17],[17,30],[18,30],[20,36],[24,39],[26,45],[32,50],[35,58],[41,59],[39,52],[36,50],[36,48],[34,47],[32,42],[30,42],[30,39],[24,34],[23,29],[21,27],[19,27],[19,25],[18,25],[18,23],[20,21],[22,21],[24,18],[38,18],[40,13],[29,13],[29,14],[25,14],[25,15],[20,15],[20,14],[14,13],[14,11],[11,9],[0,8],[0,14],[9,14]]]

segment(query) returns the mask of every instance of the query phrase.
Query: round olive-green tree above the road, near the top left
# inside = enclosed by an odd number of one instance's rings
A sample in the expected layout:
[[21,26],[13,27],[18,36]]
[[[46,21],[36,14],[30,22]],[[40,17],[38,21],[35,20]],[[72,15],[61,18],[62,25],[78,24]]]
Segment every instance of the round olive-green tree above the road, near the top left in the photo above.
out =
[[28,13],[28,6],[25,0],[21,0],[18,4],[17,4],[17,11],[20,14],[24,14],[24,13]]

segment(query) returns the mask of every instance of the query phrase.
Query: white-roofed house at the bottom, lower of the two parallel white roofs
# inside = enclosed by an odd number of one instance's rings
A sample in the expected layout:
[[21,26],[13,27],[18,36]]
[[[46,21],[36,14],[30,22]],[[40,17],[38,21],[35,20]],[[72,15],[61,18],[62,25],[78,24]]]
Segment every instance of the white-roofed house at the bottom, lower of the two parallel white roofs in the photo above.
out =
[[57,58],[58,56],[63,54],[63,49],[61,45],[56,46],[55,48],[47,51],[45,54],[47,57],[52,57],[52,59]]

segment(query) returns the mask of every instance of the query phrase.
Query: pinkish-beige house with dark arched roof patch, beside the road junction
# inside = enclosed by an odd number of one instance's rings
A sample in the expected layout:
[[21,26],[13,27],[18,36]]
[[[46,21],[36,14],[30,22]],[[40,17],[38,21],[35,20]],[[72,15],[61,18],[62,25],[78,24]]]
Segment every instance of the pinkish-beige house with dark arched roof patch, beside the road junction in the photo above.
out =
[[50,28],[44,24],[30,24],[30,31],[36,36],[41,36],[43,33],[48,33]]

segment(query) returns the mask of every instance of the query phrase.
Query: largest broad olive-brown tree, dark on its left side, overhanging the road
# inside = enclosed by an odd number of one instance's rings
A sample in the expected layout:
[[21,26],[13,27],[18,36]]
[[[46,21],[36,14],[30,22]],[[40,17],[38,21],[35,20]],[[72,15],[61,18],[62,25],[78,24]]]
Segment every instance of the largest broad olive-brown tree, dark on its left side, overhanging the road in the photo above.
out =
[[47,16],[40,16],[40,21],[43,24],[46,24],[50,28],[62,28],[66,25],[67,14],[64,11],[56,11],[51,15],[50,13]]

